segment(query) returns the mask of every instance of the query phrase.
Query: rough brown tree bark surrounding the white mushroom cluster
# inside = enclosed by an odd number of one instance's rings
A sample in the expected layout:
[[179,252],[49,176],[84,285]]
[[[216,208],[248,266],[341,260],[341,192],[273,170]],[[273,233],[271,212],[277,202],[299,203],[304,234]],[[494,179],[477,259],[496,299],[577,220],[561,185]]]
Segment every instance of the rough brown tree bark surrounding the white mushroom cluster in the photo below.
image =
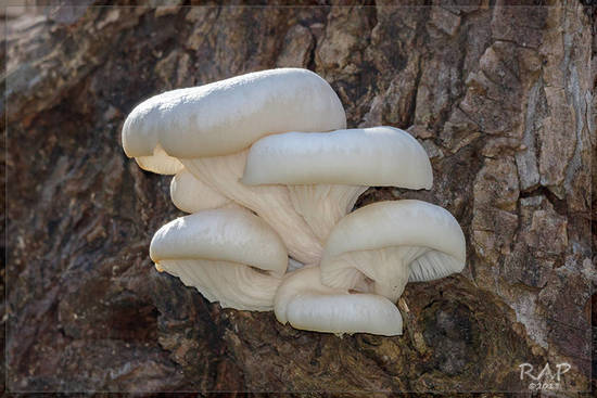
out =
[[[561,389],[587,390],[594,9],[443,3],[91,5],[12,23],[8,389],[529,391],[519,364],[568,362]],[[296,331],[152,267],[152,234],[181,214],[169,178],[125,157],[124,117],[276,66],[314,69],[350,127],[408,129],[431,157],[431,191],[357,203],[429,201],[467,236],[462,274],[407,286],[403,336]]]

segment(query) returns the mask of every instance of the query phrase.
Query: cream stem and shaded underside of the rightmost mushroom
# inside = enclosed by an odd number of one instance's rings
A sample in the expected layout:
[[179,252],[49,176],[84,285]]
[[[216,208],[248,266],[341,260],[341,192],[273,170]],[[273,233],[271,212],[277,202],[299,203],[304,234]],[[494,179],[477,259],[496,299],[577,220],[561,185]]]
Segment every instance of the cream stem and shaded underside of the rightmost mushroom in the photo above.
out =
[[[330,287],[372,292],[396,303],[404,292],[410,274],[409,264],[424,255],[429,248],[422,246],[391,246],[376,251],[348,252],[330,264],[329,271],[321,282]],[[391,267],[378,267],[379,264]],[[333,271],[332,271],[333,270]],[[366,278],[372,280],[366,283]],[[363,287],[360,287],[363,288]]]

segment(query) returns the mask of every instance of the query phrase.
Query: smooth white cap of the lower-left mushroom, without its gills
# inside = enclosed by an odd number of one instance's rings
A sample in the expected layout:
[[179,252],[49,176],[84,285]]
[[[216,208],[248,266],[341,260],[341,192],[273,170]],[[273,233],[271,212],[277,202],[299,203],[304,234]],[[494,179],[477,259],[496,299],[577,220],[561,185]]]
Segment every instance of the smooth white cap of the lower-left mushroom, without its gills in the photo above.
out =
[[241,208],[204,210],[168,222],[153,236],[150,256],[156,264],[173,259],[236,262],[280,277],[288,267],[280,236]]

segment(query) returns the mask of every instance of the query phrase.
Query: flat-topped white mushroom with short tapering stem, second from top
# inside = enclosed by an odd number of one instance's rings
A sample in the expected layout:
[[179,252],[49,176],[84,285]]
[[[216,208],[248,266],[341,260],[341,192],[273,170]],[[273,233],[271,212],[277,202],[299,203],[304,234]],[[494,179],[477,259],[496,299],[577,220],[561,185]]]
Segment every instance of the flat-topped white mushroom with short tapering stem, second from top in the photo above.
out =
[[409,133],[374,127],[265,137],[249,151],[242,182],[288,184],[294,208],[325,242],[369,185],[430,189],[433,174]]

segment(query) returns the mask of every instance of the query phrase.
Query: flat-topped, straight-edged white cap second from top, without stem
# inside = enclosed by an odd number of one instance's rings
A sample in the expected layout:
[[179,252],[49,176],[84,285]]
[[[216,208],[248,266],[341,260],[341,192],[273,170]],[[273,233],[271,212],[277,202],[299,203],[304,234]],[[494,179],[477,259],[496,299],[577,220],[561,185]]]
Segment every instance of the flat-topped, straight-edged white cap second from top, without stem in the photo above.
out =
[[242,181],[430,189],[433,172],[427,152],[412,136],[382,126],[264,137],[249,151]]

